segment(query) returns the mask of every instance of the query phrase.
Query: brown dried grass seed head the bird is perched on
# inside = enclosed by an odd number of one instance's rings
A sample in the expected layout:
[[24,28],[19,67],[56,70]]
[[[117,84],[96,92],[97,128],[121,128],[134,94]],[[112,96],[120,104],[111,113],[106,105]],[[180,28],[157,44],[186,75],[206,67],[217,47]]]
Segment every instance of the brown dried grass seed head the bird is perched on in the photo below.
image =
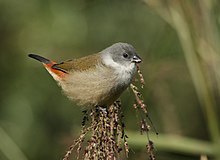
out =
[[[145,82],[143,75],[138,68],[139,81],[143,87]],[[153,142],[149,139],[148,132],[150,125],[147,121],[152,124],[146,105],[144,104],[143,96],[134,84],[130,85],[134,96],[135,103],[133,104],[135,110],[141,115],[140,130],[143,134],[147,133],[147,153],[151,160],[155,160]],[[118,160],[121,159],[122,151],[124,155],[128,157],[129,145],[127,142],[128,136],[125,134],[125,124],[123,122],[123,113],[121,111],[120,101],[116,101],[109,108],[101,108],[96,106],[89,111],[84,111],[84,117],[82,121],[82,130],[78,139],[70,146],[63,160],[69,160],[74,148],[76,148],[77,159],[84,160]],[[88,135],[88,136],[87,136]],[[86,137],[90,137],[85,142]],[[81,155],[82,146],[84,151]]]

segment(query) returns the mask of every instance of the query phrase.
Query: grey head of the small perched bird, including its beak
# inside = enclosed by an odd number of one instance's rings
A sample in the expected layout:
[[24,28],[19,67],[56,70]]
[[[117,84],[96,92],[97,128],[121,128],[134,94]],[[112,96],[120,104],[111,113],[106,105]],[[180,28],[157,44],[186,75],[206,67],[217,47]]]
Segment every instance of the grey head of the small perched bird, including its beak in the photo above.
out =
[[101,53],[110,54],[114,62],[124,66],[141,62],[141,58],[137,55],[135,48],[128,43],[115,43]]

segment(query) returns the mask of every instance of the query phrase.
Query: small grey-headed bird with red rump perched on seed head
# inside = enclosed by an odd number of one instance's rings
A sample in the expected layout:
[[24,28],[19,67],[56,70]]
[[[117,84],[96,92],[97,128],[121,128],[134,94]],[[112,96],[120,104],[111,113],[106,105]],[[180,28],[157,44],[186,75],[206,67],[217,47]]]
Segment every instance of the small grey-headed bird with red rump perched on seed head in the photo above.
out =
[[131,84],[142,61],[131,44],[122,42],[61,63],[33,53],[28,56],[43,64],[67,97],[91,107],[112,105]]

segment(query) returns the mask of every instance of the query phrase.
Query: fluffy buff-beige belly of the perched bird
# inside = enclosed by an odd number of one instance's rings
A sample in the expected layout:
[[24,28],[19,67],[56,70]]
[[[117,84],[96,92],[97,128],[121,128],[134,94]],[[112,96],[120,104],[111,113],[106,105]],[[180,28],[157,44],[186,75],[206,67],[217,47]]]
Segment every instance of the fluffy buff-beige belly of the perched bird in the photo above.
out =
[[119,77],[109,68],[70,74],[60,83],[67,96],[79,105],[109,106],[128,87],[132,75]]

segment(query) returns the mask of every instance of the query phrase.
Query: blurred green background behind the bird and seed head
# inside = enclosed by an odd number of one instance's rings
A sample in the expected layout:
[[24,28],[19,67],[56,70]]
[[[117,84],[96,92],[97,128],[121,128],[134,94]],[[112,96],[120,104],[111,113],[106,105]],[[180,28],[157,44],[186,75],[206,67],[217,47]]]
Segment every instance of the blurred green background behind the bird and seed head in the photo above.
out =
[[[62,61],[128,42],[143,59],[157,159],[219,160],[219,29],[218,0],[1,0],[0,159],[61,159],[80,133],[82,109],[28,53]],[[126,91],[128,159],[147,159],[133,101]]]

